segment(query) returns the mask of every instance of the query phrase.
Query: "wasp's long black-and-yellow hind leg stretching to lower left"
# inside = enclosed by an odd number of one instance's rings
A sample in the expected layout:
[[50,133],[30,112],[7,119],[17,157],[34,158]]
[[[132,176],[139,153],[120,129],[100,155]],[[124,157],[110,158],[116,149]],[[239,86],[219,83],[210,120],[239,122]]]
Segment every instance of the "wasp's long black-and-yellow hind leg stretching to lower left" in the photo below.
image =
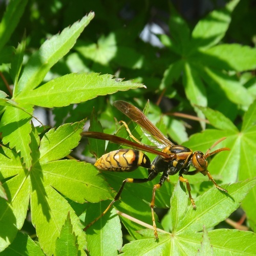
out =
[[124,185],[125,185],[126,182],[128,182],[128,183],[144,183],[144,182],[153,180],[157,175],[158,175],[157,173],[151,172],[151,173],[148,175],[148,178],[144,178],[144,179],[126,178],[126,179],[123,181],[121,187],[119,188],[118,193],[116,194],[114,200],[109,204],[108,207],[106,207],[106,209],[102,212],[102,214],[101,214],[99,217],[97,217],[94,221],[92,221],[91,223],[89,223],[89,224],[83,229],[83,231],[86,231],[86,230],[87,230],[89,227],[91,227],[97,220],[99,220],[101,217],[103,217],[103,216],[106,214],[106,212],[108,212],[108,210],[111,208],[111,206],[112,206],[117,200],[119,200],[120,195],[121,195],[121,193],[122,193],[122,191],[123,191],[123,188],[124,188]]

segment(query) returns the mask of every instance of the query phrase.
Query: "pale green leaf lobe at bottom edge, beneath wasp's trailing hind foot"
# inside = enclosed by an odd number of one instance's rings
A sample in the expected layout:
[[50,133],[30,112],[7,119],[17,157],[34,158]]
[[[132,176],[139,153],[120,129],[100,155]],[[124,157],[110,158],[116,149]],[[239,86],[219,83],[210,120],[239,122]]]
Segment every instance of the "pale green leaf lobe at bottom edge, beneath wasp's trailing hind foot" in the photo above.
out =
[[[90,205],[87,209],[86,223],[90,223],[100,216],[108,203],[100,202],[96,205]],[[86,240],[87,249],[91,255],[118,254],[122,247],[122,231],[120,220],[114,208],[86,230]]]

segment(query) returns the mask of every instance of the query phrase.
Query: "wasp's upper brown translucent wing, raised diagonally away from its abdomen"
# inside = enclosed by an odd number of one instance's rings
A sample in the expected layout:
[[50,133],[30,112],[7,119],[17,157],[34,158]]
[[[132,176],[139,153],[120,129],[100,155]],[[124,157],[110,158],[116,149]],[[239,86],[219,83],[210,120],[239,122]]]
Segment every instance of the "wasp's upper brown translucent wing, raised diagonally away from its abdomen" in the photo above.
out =
[[113,105],[120,110],[124,115],[129,117],[131,120],[139,124],[144,130],[150,133],[156,140],[161,142],[166,146],[174,146],[172,142],[170,142],[157,127],[143,114],[141,110],[136,108],[136,106],[123,101],[116,100],[113,102]]

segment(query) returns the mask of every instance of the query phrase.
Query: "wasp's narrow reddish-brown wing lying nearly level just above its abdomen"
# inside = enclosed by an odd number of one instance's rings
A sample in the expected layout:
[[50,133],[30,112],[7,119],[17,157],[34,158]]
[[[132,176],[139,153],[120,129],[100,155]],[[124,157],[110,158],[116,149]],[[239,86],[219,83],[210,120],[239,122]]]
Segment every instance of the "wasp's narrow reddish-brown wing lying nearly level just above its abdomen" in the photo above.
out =
[[130,147],[136,148],[137,150],[146,151],[149,153],[160,155],[160,156],[163,156],[164,158],[173,158],[175,156],[175,154],[168,155],[161,151],[154,150],[154,148],[140,145],[136,142],[126,140],[124,138],[121,138],[121,137],[118,137],[115,135],[99,133],[99,132],[83,132],[83,133],[81,133],[81,136],[85,136],[88,138],[94,138],[94,139],[100,139],[100,140],[109,140],[109,141],[112,141],[112,142],[120,144],[120,145],[130,146]]

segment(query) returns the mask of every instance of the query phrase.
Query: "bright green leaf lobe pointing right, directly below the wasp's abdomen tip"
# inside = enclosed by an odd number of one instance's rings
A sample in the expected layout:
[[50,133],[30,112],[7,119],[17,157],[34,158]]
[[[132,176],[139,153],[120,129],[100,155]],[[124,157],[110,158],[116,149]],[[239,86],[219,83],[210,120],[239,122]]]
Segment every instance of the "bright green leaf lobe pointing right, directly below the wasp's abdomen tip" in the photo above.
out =
[[75,202],[99,202],[111,198],[108,184],[90,163],[59,160],[41,164],[41,168],[45,183]]

